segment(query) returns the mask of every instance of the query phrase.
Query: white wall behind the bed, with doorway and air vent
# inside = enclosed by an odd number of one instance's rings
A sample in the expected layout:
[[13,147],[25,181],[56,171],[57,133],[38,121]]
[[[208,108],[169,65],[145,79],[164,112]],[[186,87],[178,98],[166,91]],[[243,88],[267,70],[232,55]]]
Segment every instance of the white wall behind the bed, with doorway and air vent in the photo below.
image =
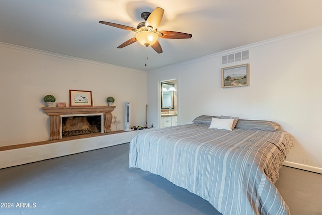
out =
[[[322,27],[239,47],[147,75],[149,125],[158,124],[158,82],[178,79],[178,122],[199,115],[272,120],[294,138],[287,161],[322,168]],[[250,59],[221,65],[221,55]],[[221,68],[250,63],[250,86],[221,88]]]

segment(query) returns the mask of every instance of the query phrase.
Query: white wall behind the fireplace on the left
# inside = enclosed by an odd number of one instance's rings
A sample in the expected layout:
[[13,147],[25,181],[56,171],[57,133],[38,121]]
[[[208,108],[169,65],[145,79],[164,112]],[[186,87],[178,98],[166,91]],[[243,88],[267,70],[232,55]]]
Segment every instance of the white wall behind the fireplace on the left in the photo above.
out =
[[[68,106],[69,90],[92,91],[94,106],[107,106],[106,98],[113,96],[119,130],[124,129],[124,103],[131,101],[131,124],[145,125],[146,76],[144,71],[0,43],[0,147],[48,140],[42,98],[52,94]],[[134,91],[138,86],[140,91]]]

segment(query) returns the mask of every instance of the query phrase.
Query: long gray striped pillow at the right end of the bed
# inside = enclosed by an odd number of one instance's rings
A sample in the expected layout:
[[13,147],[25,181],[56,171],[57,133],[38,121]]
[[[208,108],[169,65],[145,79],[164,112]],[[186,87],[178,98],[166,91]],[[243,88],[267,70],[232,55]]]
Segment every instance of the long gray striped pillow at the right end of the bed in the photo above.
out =
[[239,119],[235,128],[275,131],[280,125],[272,121]]

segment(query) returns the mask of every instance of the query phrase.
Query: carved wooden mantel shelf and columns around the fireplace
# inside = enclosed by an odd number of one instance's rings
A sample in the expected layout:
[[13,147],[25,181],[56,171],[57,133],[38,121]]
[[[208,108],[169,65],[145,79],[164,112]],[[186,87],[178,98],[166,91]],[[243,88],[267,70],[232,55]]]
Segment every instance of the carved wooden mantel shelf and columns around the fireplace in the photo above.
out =
[[104,114],[104,132],[111,132],[112,111],[115,106],[89,106],[89,107],[43,107],[44,112],[50,117],[50,140],[60,139],[61,115],[69,114]]

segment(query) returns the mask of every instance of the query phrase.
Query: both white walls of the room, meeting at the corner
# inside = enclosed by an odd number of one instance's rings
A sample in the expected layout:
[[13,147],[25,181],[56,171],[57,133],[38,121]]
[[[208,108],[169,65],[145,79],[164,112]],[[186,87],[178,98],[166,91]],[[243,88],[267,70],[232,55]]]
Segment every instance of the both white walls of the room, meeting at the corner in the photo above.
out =
[[[113,96],[113,115],[124,128],[124,102],[131,101],[131,125],[158,125],[158,82],[178,80],[178,123],[199,115],[233,115],[280,123],[295,137],[287,160],[322,168],[320,52],[322,27],[227,50],[176,66],[143,71],[64,57],[0,43],[0,146],[49,139],[42,97],[69,104],[69,90],[90,90],[95,106]],[[250,50],[250,86],[221,88],[220,56]],[[125,77],[125,78],[124,78]],[[133,91],[140,86],[140,92]],[[192,99],[194,99],[192,101]],[[113,128],[113,126],[112,126]]]

